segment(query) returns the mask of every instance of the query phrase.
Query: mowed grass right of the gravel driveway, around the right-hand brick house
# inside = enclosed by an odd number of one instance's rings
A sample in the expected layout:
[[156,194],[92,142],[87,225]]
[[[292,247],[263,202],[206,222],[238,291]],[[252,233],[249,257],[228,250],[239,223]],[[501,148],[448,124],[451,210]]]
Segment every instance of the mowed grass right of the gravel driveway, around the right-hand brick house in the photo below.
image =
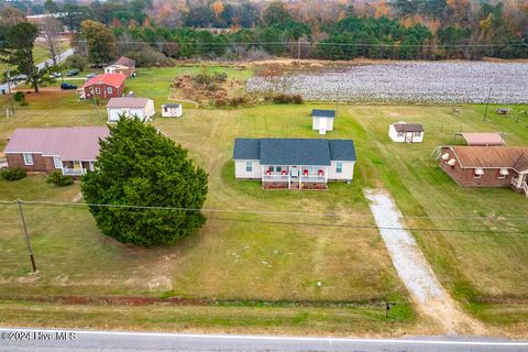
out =
[[[513,118],[506,119],[492,108],[485,122],[484,107],[461,107],[459,116],[452,116],[449,107],[346,110],[346,123],[358,141],[360,169],[367,184],[389,189],[404,215],[427,217],[407,222],[413,228],[433,229],[414,234],[444,287],[479,318],[515,324],[522,317],[524,329],[528,321],[528,199],[507,188],[458,187],[430,153],[438,145],[451,144],[453,133],[461,130],[505,132],[508,145],[526,145],[528,121],[525,118],[515,122],[516,114],[526,109],[514,107]],[[389,141],[388,124],[402,120],[424,124],[424,144]],[[465,219],[475,217],[484,219]],[[446,231],[436,231],[441,229]]]

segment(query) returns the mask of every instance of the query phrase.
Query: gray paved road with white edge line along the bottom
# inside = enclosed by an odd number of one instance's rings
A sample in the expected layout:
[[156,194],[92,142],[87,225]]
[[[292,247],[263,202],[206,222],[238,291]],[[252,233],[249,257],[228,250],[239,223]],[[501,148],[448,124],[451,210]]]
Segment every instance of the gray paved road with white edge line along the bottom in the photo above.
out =
[[[528,341],[507,341],[468,338],[413,338],[413,339],[341,339],[341,338],[294,338],[271,336],[227,334],[176,334],[138,333],[111,331],[68,331],[1,329],[0,351],[339,351],[339,352],[510,352],[528,351]],[[74,340],[44,341],[56,337],[56,332],[74,332]],[[22,333],[29,341],[12,341],[10,334]],[[36,338],[40,337],[40,340]]]

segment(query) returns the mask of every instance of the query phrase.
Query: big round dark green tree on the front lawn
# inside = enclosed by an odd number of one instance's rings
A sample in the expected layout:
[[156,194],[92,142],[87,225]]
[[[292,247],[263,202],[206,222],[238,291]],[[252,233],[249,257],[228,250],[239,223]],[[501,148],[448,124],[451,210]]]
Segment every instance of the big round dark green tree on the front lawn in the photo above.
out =
[[138,119],[110,127],[96,172],[82,177],[81,189],[101,231],[124,243],[172,245],[206,221],[199,210],[190,210],[206,200],[206,172],[185,148]]

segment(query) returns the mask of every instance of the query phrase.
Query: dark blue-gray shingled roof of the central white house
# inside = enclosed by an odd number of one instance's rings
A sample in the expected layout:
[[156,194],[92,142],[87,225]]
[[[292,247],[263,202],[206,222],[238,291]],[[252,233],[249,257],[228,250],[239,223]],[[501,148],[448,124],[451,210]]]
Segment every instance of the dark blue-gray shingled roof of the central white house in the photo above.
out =
[[235,139],[234,160],[260,160],[263,165],[330,165],[355,161],[352,140]]

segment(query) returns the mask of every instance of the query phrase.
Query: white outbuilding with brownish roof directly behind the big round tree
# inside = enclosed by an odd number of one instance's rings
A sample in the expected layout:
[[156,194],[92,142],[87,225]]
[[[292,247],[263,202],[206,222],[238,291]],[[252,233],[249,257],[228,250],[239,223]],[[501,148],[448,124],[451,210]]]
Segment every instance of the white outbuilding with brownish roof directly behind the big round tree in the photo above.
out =
[[107,103],[108,122],[118,122],[120,117],[138,117],[141,121],[152,119],[156,113],[154,100],[148,98],[119,97]]

